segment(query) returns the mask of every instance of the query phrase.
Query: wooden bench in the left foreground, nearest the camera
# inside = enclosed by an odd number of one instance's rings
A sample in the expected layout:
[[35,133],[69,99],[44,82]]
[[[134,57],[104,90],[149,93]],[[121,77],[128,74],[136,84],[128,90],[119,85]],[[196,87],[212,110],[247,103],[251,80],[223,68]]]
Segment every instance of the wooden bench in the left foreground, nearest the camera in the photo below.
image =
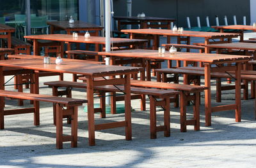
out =
[[[0,106],[0,129],[4,129],[4,116],[5,115],[18,115],[24,113],[34,113],[34,125],[39,125],[39,102],[52,102],[56,106],[56,148],[62,149],[63,142],[71,141],[71,147],[77,147],[77,106],[81,106],[86,100],[72,99],[68,97],[56,97],[51,95],[29,94],[0,90],[1,101],[4,97],[15,99],[26,99],[34,101],[33,108],[22,109],[7,109],[4,110]],[[64,109],[63,107],[67,107]],[[63,135],[63,115],[70,115],[72,117],[71,136]]]

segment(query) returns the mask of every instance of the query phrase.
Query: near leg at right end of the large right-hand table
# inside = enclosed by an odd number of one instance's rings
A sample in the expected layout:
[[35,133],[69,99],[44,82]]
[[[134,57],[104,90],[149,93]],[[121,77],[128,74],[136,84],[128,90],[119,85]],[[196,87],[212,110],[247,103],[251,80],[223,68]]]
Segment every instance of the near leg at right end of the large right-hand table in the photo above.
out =
[[205,126],[211,126],[211,64],[204,64],[205,79]]

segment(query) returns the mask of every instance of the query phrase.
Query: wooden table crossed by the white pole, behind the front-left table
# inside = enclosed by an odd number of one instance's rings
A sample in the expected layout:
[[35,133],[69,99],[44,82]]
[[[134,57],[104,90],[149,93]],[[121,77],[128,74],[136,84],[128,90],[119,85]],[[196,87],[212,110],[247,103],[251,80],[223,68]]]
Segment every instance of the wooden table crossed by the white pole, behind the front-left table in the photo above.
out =
[[[90,38],[84,38],[84,36],[78,36],[74,38],[70,34],[42,34],[42,35],[33,35],[33,36],[24,36],[24,38],[33,40],[33,51],[34,55],[38,55],[38,40],[54,40],[54,41],[62,41],[63,43],[88,43],[95,44],[95,51],[99,52],[99,45],[105,45],[106,41],[104,37],[99,36],[90,36]],[[143,44],[147,42],[145,39],[125,39],[125,38],[111,38],[111,43],[113,46],[134,46],[134,48],[138,48],[138,46],[143,46]],[[68,46],[67,50],[71,50],[70,46]]]

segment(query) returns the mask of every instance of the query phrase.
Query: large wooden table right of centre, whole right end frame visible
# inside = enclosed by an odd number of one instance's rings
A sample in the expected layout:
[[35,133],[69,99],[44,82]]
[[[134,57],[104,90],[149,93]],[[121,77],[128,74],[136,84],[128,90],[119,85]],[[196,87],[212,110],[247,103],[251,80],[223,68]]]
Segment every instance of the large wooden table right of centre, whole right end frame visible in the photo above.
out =
[[[188,61],[204,62],[205,73],[205,125],[211,125],[211,113],[216,111],[236,110],[236,122],[241,122],[241,64],[248,62],[250,56],[244,55],[224,55],[212,53],[188,53],[177,52],[170,54],[168,52],[162,54],[156,50],[120,50],[114,52],[100,52],[100,55],[106,55],[115,60],[115,57],[134,57],[143,58],[147,61],[150,59],[161,60],[183,60],[185,66]],[[236,63],[236,64],[231,64]],[[224,66],[226,64],[227,66]],[[148,63],[147,63],[148,65]],[[148,66],[147,66],[148,67]],[[211,72],[236,71],[236,103],[223,106],[211,106]],[[148,72],[147,72],[148,74]]]

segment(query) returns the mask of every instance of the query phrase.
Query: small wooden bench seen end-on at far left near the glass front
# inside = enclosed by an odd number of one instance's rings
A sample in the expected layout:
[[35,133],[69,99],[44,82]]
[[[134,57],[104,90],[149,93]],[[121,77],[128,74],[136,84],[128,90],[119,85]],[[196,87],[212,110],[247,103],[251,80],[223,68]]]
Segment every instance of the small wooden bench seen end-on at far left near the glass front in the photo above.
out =
[[24,53],[30,55],[31,44],[22,41],[21,39],[12,37],[12,47],[14,48],[15,54]]

